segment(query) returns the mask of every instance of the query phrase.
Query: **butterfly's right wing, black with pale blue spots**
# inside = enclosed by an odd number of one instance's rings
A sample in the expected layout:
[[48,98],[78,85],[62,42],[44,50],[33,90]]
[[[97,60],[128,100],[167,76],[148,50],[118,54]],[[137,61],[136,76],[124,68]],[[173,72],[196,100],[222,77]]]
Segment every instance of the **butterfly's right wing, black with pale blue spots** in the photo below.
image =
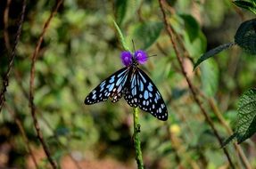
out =
[[139,107],[160,120],[168,119],[168,111],[153,81],[140,68],[136,68],[124,89],[124,98],[132,107]]

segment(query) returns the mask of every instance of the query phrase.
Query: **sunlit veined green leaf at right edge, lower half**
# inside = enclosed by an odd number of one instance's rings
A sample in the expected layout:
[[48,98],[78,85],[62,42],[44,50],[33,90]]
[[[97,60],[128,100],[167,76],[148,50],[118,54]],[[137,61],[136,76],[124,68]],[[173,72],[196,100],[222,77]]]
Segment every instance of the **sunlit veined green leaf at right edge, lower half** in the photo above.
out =
[[241,143],[256,132],[256,89],[246,91],[238,103],[236,139]]

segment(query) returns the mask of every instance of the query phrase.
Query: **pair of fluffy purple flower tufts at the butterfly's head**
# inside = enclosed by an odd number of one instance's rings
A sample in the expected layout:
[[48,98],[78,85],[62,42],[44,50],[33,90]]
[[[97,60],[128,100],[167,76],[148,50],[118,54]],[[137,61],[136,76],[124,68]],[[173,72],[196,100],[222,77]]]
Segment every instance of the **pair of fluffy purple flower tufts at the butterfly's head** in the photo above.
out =
[[128,51],[121,52],[121,60],[126,67],[130,65],[137,66],[138,64],[145,64],[147,58],[146,52],[142,50],[137,50],[134,54]]

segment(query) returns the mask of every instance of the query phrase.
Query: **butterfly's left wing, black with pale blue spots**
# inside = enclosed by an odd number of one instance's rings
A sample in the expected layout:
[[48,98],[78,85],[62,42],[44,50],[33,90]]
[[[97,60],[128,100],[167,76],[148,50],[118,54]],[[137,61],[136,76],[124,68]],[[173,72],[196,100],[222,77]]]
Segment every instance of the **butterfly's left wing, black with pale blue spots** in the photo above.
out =
[[122,89],[126,84],[128,78],[128,67],[121,68],[115,72],[101,84],[95,87],[95,89],[87,95],[85,104],[95,104],[99,101],[107,101],[109,97],[113,98],[112,102],[119,101],[122,97]]

